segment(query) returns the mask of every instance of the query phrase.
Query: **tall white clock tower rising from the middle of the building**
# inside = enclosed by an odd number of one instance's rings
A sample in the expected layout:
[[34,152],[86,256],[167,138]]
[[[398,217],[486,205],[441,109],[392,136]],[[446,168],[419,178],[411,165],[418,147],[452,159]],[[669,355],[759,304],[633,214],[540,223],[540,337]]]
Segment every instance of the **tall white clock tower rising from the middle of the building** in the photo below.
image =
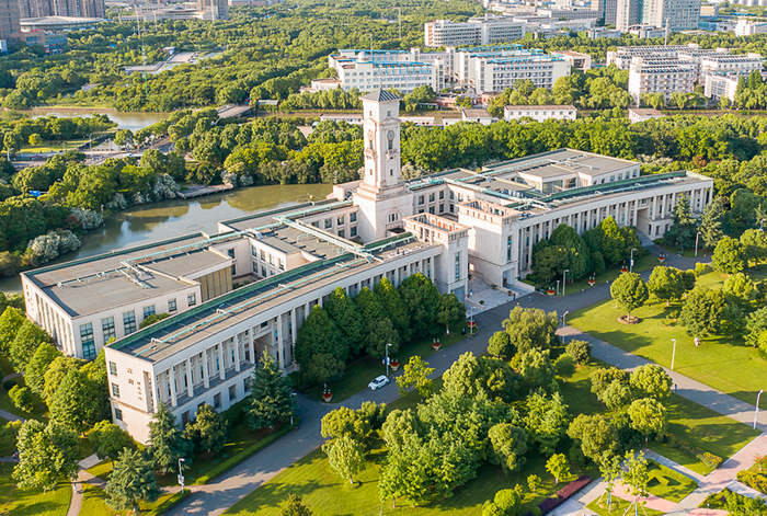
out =
[[400,98],[378,90],[362,98],[365,172],[354,193],[359,206],[359,238],[373,242],[401,228],[413,215],[413,199],[400,175]]

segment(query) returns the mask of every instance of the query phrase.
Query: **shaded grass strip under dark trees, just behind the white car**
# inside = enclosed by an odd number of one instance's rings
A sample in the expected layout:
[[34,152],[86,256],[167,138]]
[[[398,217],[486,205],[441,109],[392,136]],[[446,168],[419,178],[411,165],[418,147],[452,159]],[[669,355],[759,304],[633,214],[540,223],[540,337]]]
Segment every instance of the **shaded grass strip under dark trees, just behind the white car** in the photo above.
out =
[[[460,323],[450,328],[449,335],[443,332],[442,335],[439,335],[442,347],[445,348],[451,346],[453,344],[469,336],[468,333],[466,335],[461,335],[461,329],[463,328],[466,328],[466,322],[461,321]],[[476,334],[477,330],[474,330],[474,335]],[[400,347],[400,351],[397,354],[392,355],[392,358],[398,358],[400,362],[400,368],[402,368],[408,360],[410,360],[411,356],[417,355],[425,359],[427,356],[433,355],[435,351],[432,347],[432,337],[428,336],[413,340],[403,345]],[[381,360],[367,355],[355,358],[346,364],[346,371],[343,378],[328,382],[328,387],[333,393],[332,402],[337,403],[340,401],[344,401],[357,392],[367,389],[367,385],[370,382],[370,380],[385,374],[386,366],[381,363]],[[391,371],[389,374],[391,374]],[[296,377],[293,376],[293,378]],[[296,388],[314,400],[322,401],[322,385],[316,385],[308,388],[306,386],[296,386]]]

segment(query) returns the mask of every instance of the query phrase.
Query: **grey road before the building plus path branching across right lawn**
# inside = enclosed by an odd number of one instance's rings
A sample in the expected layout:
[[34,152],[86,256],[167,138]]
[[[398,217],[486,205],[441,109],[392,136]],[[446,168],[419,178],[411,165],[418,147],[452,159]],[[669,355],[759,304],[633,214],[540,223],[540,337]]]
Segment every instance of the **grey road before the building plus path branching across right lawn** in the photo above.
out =
[[[710,259],[703,256],[698,259],[684,259],[674,254],[668,254],[657,245],[649,245],[648,249],[654,255],[661,252],[666,253],[666,265],[679,268],[692,268],[697,262],[710,261]],[[650,271],[642,273],[642,276],[646,279],[650,276]],[[488,339],[493,332],[501,329],[501,322],[508,317],[508,310],[516,305],[524,308],[542,308],[547,311],[556,310],[557,313],[561,314],[565,310],[572,312],[609,299],[609,285],[604,284],[566,297],[549,297],[534,294],[529,301],[525,296],[515,301],[479,313],[474,310],[474,320],[481,330],[480,335],[461,341],[430,356],[428,363],[431,367],[435,369],[433,376],[442,376],[463,353],[472,352],[474,355],[484,354],[488,348]],[[580,333],[573,328],[566,328],[565,330],[568,335]],[[591,335],[583,335],[582,337],[587,339],[594,344],[593,354],[600,360],[625,369],[633,369],[648,363],[644,358],[631,355]],[[696,403],[708,406],[720,414],[728,415],[746,424],[752,424],[754,414],[753,405],[711,389],[683,375],[676,372],[671,374],[678,386],[678,394]],[[320,446],[325,440],[320,435],[320,420],[328,412],[339,406],[358,409],[364,401],[390,403],[398,397],[399,394],[394,382],[377,391],[365,390],[342,403],[324,404],[304,394],[299,394],[298,406],[301,415],[300,428],[267,446],[229,472],[214,480],[211,483],[193,486],[194,494],[165,514],[170,516],[216,516],[224,513],[248,493],[257,489],[264,482]],[[767,411],[759,413],[758,426],[763,431],[767,429]]]

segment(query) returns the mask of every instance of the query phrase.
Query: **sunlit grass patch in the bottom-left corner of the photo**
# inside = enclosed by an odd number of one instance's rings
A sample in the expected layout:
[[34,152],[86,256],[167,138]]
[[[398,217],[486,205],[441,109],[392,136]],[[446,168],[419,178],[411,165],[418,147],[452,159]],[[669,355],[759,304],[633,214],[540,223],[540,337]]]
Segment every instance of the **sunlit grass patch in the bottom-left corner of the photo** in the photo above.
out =
[[[65,516],[72,500],[72,486],[60,483],[54,491],[19,489],[10,475],[11,465],[0,465],[0,514],[13,516]],[[88,514],[88,513],[83,513]]]

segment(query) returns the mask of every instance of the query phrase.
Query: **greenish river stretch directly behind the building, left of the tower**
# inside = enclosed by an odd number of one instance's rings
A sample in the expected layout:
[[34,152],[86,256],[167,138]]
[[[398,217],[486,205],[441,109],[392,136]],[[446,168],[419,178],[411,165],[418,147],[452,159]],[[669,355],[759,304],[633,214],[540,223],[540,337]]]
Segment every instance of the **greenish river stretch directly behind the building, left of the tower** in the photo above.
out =
[[[187,233],[218,232],[217,222],[254,211],[289,206],[312,195],[323,199],[333,187],[329,184],[288,184],[253,186],[192,199],[170,199],[131,207],[113,215],[104,225],[82,237],[82,246],[50,263],[69,262],[115,249],[141,245]],[[19,276],[0,279],[0,290],[21,291]]]

